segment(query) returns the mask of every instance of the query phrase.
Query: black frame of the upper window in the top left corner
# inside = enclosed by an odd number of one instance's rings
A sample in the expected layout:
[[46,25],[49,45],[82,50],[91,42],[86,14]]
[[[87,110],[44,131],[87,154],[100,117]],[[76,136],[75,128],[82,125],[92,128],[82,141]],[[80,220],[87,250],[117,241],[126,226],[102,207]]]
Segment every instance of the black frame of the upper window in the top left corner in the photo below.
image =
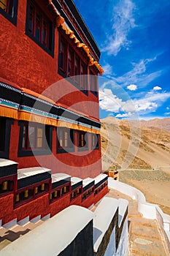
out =
[[[9,5],[12,4],[12,15],[9,13]],[[0,7],[1,15],[4,15],[7,20],[17,26],[17,17],[18,17],[18,0],[7,0],[7,10],[3,10]]]

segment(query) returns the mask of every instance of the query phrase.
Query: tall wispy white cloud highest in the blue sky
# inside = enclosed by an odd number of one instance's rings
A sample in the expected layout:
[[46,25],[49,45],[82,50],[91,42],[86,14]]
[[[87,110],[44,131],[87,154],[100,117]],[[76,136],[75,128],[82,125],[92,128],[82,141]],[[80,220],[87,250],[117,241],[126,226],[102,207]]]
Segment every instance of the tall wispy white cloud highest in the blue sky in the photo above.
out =
[[107,38],[106,46],[102,51],[109,55],[117,55],[121,48],[128,48],[131,41],[128,40],[128,32],[134,29],[135,20],[133,17],[135,5],[131,0],[120,0],[113,10],[113,35]]

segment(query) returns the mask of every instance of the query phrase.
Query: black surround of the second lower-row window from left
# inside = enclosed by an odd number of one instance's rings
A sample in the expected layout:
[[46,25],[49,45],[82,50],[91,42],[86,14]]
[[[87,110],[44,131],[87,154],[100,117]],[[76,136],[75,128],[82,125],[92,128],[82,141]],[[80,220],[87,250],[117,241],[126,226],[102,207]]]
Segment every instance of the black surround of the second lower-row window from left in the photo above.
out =
[[45,138],[44,141],[47,144],[44,148],[38,148],[31,150],[31,148],[23,149],[23,127],[27,125],[27,121],[19,121],[18,125],[20,126],[20,137],[19,137],[19,144],[18,144],[18,157],[32,157],[32,156],[41,156],[41,155],[50,155],[52,154],[52,145],[53,145],[53,127],[50,127],[45,124],[39,123],[31,123],[31,126],[34,125],[36,127],[45,127]]

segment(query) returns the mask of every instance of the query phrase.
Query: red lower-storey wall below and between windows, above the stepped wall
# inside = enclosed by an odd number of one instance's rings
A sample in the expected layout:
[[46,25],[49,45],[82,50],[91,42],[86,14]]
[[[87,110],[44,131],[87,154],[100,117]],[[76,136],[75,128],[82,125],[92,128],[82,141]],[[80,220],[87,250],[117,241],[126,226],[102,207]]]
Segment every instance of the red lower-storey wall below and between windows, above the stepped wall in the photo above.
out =
[[[42,166],[52,173],[67,173],[80,178],[95,178],[101,170],[101,151],[93,150],[73,153],[56,153],[56,130],[53,129],[53,154],[36,157],[18,157],[20,127],[15,120],[11,128],[9,159],[18,162],[18,169]],[[89,143],[90,144],[90,143]]]

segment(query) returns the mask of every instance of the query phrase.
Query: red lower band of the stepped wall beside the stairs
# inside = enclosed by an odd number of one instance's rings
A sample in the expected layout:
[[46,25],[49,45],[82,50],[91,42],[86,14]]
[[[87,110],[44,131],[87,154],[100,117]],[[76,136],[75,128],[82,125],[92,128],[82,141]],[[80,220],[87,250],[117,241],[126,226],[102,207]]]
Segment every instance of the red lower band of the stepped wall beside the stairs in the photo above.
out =
[[108,192],[108,187],[104,187],[96,196],[94,193],[82,201],[82,194],[70,200],[70,193],[64,195],[63,197],[55,200],[53,203],[49,203],[49,193],[42,195],[41,197],[32,200],[31,202],[24,203],[22,206],[14,208],[14,194],[6,195],[0,197],[0,220],[2,220],[2,225],[12,221],[17,218],[19,222],[29,216],[30,220],[41,215],[45,217],[50,214],[53,217],[58,212],[62,211],[64,208],[72,205],[82,206],[89,208],[90,206],[98,203],[104,195]]

